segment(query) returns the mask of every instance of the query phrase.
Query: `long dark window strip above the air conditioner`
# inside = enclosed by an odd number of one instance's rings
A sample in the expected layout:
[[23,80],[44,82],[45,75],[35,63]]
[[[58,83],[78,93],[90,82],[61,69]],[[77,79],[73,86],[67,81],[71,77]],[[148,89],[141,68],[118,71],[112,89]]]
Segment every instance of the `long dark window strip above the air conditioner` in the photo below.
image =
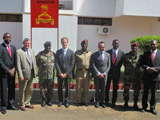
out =
[[112,25],[112,18],[78,17],[78,24],[111,26]]

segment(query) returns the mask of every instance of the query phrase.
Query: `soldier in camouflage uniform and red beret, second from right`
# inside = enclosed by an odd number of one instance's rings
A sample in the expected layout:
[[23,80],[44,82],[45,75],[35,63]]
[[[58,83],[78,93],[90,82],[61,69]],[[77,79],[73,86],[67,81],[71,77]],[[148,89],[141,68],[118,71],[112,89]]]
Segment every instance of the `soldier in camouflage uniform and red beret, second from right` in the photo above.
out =
[[134,109],[139,110],[137,105],[138,97],[141,89],[141,69],[140,69],[140,54],[138,52],[138,43],[131,44],[131,51],[126,53],[123,57],[123,65],[125,68],[124,71],[124,108],[128,108],[128,100],[129,100],[129,89],[132,85],[132,89],[134,90],[133,100],[134,100]]

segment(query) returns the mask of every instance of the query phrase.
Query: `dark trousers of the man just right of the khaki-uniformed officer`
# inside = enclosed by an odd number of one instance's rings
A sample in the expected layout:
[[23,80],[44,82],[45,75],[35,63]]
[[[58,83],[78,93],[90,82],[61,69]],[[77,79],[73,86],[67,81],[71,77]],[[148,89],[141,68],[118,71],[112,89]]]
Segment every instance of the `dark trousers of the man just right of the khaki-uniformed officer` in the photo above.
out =
[[97,102],[104,103],[106,81],[107,81],[106,78],[103,79],[100,79],[98,77],[94,78],[95,98]]

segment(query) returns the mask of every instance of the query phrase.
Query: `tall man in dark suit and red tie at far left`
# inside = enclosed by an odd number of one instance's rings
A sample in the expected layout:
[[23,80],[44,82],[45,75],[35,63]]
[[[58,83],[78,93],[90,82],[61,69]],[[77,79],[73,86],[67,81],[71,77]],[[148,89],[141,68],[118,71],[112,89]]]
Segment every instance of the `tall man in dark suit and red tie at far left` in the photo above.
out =
[[[15,53],[16,48],[10,44],[11,34],[3,35],[4,42],[0,45],[0,88],[1,88],[1,113],[6,109],[18,110],[15,101]],[[8,93],[7,93],[8,88]],[[8,95],[8,105],[7,105]]]

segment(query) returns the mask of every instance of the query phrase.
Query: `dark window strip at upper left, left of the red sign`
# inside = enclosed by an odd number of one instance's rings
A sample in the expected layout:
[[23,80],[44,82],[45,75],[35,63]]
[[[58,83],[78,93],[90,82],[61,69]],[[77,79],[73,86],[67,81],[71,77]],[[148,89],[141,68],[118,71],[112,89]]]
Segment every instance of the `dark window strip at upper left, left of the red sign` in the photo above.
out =
[[4,22],[22,22],[22,15],[0,14],[0,21]]

